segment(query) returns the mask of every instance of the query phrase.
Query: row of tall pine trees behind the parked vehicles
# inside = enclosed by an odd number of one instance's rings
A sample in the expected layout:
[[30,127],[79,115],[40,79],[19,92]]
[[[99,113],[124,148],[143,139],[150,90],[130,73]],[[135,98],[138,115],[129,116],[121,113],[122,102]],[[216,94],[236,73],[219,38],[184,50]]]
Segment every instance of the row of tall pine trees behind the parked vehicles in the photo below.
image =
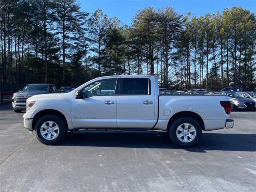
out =
[[128,26],[76,0],[0,2],[1,83],[150,74],[176,90],[256,87],[256,18],[241,7],[200,17],[148,7]]

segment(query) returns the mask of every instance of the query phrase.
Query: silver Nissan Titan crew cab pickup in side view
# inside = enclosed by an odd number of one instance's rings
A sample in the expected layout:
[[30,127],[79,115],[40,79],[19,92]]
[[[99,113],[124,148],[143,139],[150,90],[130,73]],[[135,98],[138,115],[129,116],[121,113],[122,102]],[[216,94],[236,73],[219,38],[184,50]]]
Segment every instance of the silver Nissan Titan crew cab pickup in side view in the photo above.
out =
[[[108,91],[106,91],[108,90]],[[156,76],[105,76],[69,93],[28,98],[24,127],[40,142],[58,144],[73,133],[163,130],[181,147],[202,131],[232,128],[226,95],[160,95]]]

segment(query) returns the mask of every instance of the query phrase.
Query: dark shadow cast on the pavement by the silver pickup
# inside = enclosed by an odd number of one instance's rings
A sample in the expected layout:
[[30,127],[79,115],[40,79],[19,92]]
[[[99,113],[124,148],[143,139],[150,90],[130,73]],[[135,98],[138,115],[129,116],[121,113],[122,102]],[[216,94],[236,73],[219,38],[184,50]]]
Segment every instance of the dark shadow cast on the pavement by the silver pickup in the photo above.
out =
[[[180,149],[174,146],[166,132],[149,134],[107,133],[107,134],[72,134],[62,146],[95,146],[120,148],[163,148]],[[186,148],[189,152],[220,151],[256,151],[256,134],[220,134],[203,133],[202,140],[193,148]]]

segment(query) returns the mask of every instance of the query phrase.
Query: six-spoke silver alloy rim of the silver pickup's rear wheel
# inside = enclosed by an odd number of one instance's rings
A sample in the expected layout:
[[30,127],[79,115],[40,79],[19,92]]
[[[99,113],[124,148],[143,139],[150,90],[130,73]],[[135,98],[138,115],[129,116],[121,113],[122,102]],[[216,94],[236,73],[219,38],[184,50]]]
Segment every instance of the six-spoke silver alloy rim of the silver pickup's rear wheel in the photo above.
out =
[[183,123],[178,126],[176,130],[176,136],[184,143],[191,142],[196,137],[196,129],[192,124]]

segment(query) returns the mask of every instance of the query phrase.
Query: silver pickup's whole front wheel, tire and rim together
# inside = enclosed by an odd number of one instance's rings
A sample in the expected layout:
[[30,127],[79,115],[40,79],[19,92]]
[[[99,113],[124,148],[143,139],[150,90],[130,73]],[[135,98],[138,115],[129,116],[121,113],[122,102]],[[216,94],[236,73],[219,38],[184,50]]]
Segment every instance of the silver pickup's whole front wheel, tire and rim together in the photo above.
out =
[[46,115],[41,117],[35,126],[36,137],[46,145],[55,145],[62,142],[67,129],[61,118],[55,115]]

